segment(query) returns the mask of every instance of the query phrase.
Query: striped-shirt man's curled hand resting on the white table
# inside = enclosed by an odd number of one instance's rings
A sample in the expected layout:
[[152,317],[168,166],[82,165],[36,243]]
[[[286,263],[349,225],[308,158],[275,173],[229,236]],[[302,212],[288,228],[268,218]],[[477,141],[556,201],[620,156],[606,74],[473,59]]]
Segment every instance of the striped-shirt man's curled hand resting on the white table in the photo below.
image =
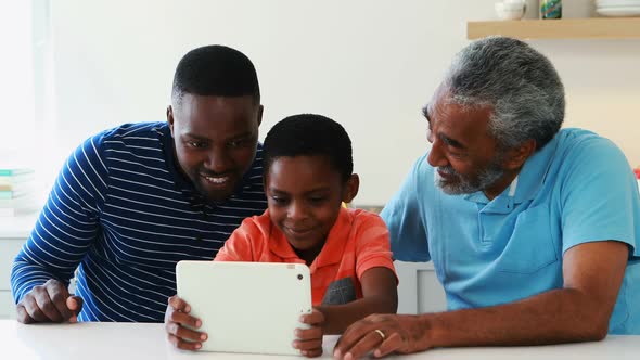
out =
[[82,299],[69,295],[66,286],[54,279],[43,285],[34,286],[15,307],[17,321],[23,324],[76,322],[81,309]]

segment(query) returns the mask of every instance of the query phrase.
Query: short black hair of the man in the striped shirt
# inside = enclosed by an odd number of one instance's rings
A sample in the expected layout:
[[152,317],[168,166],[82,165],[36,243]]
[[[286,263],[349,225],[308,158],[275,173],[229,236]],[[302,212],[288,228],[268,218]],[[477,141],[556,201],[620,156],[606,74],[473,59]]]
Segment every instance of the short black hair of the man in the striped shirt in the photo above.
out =
[[260,103],[258,76],[251,60],[225,46],[206,46],[188,52],[176,67],[171,100],[179,104],[182,95],[251,95]]

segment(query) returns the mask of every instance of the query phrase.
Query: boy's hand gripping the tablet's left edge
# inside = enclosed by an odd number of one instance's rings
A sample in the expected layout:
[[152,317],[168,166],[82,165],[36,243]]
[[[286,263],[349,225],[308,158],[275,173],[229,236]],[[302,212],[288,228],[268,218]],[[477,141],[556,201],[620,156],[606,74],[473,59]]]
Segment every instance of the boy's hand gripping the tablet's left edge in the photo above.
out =
[[202,321],[189,314],[191,307],[178,295],[169,297],[167,312],[165,312],[165,329],[169,343],[178,349],[195,351],[207,339],[207,334],[185,326],[197,329]]

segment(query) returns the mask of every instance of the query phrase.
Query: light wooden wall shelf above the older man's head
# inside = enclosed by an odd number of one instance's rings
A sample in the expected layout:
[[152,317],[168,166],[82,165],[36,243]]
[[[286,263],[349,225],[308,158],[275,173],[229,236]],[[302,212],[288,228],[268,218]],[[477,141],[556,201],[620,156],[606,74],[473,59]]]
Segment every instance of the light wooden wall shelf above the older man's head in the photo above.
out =
[[466,38],[501,35],[517,39],[640,38],[640,17],[592,17],[468,22]]

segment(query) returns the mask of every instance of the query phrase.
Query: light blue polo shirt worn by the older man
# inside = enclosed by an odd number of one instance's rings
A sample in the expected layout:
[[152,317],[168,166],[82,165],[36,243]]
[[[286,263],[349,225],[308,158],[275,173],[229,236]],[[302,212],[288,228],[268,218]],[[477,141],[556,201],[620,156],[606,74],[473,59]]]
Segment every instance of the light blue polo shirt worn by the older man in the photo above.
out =
[[561,288],[564,252],[616,240],[629,245],[629,261],[609,332],[640,334],[640,195],[615,144],[563,129],[492,201],[444,193],[427,155],[381,216],[396,259],[433,260],[450,310]]

